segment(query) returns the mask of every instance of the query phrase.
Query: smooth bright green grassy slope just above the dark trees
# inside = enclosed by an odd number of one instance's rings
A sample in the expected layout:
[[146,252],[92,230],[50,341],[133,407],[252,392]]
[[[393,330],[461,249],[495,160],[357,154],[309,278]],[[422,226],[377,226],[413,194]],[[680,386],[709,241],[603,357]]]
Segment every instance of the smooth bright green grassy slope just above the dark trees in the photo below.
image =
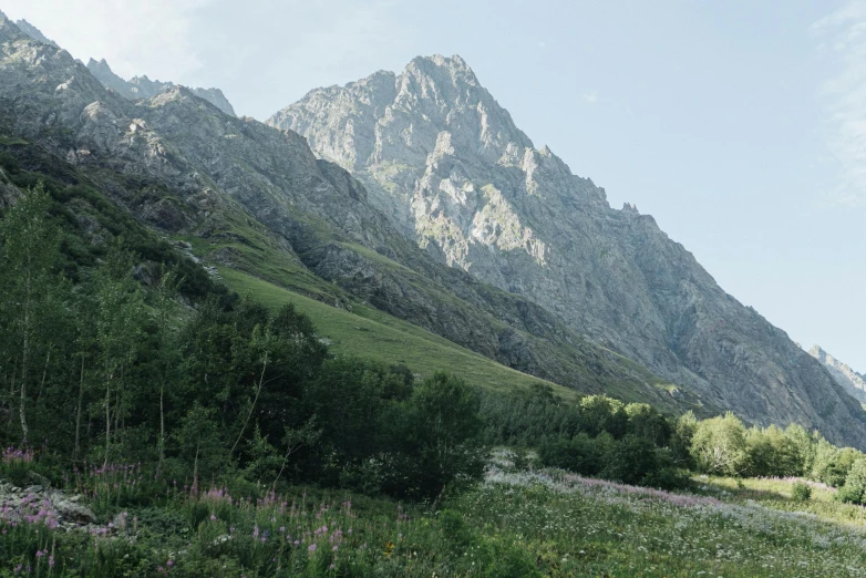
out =
[[220,268],[219,273],[229,288],[240,295],[250,292],[268,307],[276,309],[287,302],[295,303],[312,319],[318,333],[338,354],[403,363],[423,376],[439,370],[450,371],[470,384],[494,390],[542,383],[554,388],[563,396],[577,395],[573,390],[501,365],[378,309],[353,303],[350,312],[235,269]]

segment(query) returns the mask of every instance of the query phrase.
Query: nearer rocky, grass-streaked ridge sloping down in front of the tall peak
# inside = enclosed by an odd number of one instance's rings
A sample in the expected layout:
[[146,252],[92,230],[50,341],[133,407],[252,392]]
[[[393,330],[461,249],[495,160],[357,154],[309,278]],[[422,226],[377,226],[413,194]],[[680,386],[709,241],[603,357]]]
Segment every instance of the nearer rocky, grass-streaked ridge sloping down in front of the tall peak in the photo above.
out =
[[297,133],[229,116],[183,86],[126,100],[10,23],[0,23],[0,154],[28,171],[86,175],[140,221],[192,241],[207,264],[340,308],[378,308],[580,392],[719,411],[525,297],[437,262]]

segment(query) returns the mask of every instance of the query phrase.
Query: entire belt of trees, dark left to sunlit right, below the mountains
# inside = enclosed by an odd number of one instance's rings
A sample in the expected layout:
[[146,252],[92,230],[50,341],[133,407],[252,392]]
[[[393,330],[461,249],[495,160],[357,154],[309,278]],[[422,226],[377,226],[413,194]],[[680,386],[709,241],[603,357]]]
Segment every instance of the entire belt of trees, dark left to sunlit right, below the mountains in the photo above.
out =
[[[670,416],[599,395],[573,402],[545,388],[492,392],[460,375],[336,357],[291,303],[270,311],[229,292],[166,240],[128,226],[85,247],[63,203],[86,190],[41,182],[27,190],[0,220],[0,478],[81,492],[104,519],[175,504],[196,530],[237,518],[214,506],[231,495],[252,508],[245,519],[258,537],[257,508],[297,487],[436,512],[482,479],[497,446],[514,448],[527,471],[668,489],[688,488],[693,473],[798,476],[841,487],[842,500],[866,500],[866,456],[797,425]],[[84,557],[86,540],[58,546],[48,515],[30,525],[14,516],[0,514],[10,559],[51,544],[51,568],[55,547],[82,575],[113,576],[126,564]],[[337,571],[337,546],[312,557],[322,572]],[[123,548],[135,568],[154,570],[143,549]],[[283,561],[318,571],[291,551],[247,554],[202,550],[190,575],[226,560],[269,575]]]

